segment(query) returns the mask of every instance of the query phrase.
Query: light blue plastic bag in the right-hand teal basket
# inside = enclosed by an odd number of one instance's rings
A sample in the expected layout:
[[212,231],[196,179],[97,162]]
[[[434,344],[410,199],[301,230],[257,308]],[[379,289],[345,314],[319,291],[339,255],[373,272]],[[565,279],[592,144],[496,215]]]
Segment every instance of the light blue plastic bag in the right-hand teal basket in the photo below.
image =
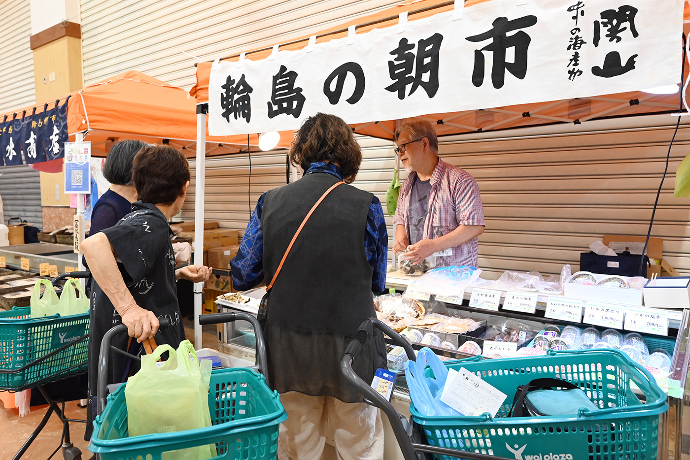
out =
[[[433,371],[434,377],[426,377],[426,365]],[[436,356],[431,348],[424,347],[417,354],[416,361],[405,363],[405,379],[410,390],[410,398],[420,414],[431,415],[462,415],[441,401],[441,393],[448,378],[448,368]]]

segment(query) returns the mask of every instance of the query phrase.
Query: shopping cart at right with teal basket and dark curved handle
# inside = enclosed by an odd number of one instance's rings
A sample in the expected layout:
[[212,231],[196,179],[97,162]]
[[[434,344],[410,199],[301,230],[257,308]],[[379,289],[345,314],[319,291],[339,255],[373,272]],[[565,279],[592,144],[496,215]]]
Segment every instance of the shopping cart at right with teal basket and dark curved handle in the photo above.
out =
[[[517,386],[540,377],[567,380],[580,386],[600,410],[580,410],[573,416],[507,417],[508,399],[496,417],[430,417],[411,403],[411,423],[352,370],[352,363],[371,337],[382,330],[409,359],[413,348],[395,331],[372,318],[362,323],[340,363],[346,379],[388,419],[405,460],[429,452],[440,459],[622,460],[657,458],[659,416],[668,410],[666,394],[646,369],[618,350],[578,350],[546,356],[508,359],[474,357],[446,361],[447,367],[465,368],[498,390],[515,394]],[[422,430],[426,444],[413,442],[413,426]],[[458,452],[462,450],[462,452]],[[495,457],[502,455],[505,457]]]

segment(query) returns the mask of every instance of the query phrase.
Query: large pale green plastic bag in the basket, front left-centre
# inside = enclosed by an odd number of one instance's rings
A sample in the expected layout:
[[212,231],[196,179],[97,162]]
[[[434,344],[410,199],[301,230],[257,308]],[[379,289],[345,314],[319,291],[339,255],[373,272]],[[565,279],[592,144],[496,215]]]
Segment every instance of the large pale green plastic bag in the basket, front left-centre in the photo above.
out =
[[[168,361],[157,363],[164,352]],[[190,356],[191,355],[191,356]],[[160,366],[158,366],[160,365]],[[141,357],[141,370],[125,387],[129,435],[196,430],[211,426],[208,410],[210,361],[199,359],[190,341],[177,351],[161,345]],[[165,452],[163,460],[207,460],[216,456],[215,445]]]

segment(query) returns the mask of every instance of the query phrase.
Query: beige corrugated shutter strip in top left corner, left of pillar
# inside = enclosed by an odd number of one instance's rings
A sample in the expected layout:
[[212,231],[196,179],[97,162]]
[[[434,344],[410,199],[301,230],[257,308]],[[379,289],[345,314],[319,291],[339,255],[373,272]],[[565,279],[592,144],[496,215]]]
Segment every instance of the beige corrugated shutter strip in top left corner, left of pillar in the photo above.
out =
[[30,0],[0,2],[0,113],[35,102]]

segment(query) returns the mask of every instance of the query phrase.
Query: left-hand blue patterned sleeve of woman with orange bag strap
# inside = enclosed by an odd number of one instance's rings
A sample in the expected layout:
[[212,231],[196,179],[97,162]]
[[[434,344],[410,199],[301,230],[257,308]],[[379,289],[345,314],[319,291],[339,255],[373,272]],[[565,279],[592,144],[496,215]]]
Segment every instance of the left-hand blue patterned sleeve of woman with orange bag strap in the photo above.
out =
[[259,197],[237,255],[230,261],[233,286],[238,291],[251,289],[264,280],[264,233],[261,228],[264,197],[266,193]]

